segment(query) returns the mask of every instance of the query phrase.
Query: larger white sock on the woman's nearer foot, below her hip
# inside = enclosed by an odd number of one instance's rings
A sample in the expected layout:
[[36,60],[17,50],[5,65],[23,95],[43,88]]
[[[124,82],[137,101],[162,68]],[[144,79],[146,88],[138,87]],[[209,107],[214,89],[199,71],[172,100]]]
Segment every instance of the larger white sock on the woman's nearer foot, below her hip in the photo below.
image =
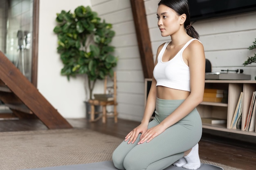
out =
[[183,165],[183,168],[190,169],[190,170],[196,170],[200,168],[201,162],[199,158],[199,153],[198,153],[198,144],[196,144],[189,155],[185,156],[184,158],[186,159],[187,163]]

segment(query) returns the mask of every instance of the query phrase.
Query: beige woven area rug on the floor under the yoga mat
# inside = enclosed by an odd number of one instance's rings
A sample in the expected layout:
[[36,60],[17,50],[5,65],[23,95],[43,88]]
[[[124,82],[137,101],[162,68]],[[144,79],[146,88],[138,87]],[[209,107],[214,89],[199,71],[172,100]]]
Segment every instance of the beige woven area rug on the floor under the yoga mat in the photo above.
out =
[[[109,161],[122,140],[88,129],[0,132],[0,170]],[[210,161],[201,162],[224,170],[240,170]]]

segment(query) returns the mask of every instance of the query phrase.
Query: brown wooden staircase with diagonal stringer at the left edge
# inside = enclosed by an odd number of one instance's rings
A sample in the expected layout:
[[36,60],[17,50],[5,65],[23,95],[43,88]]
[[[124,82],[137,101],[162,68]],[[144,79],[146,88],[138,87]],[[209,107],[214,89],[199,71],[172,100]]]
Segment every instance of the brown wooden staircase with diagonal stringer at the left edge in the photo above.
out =
[[[19,119],[40,119],[49,129],[72,128],[0,51],[0,101]],[[6,115],[6,114],[3,114]]]

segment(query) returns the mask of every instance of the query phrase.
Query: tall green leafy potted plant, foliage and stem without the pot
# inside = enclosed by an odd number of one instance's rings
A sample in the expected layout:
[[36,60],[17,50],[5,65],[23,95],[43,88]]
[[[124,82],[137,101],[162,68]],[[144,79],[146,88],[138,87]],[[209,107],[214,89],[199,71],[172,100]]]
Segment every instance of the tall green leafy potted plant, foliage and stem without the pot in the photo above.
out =
[[96,81],[107,75],[112,77],[117,65],[117,57],[112,55],[115,47],[110,45],[115,36],[112,24],[102,21],[89,6],[79,6],[74,13],[62,10],[57,13],[56,22],[57,51],[63,62],[61,75],[68,80],[70,76],[86,75],[92,99]]

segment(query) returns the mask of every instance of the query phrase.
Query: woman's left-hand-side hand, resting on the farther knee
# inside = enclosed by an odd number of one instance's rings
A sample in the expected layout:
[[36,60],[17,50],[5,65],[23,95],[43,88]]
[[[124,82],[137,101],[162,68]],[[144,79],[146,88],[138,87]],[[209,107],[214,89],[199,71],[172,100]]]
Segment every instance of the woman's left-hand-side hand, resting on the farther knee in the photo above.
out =
[[134,143],[135,140],[137,139],[139,133],[141,133],[141,135],[144,134],[144,132],[146,132],[148,129],[148,124],[140,124],[139,126],[137,126],[136,128],[134,128],[130,133],[128,133],[128,135],[126,135],[125,140],[124,141],[128,141],[128,144],[130,143]]

